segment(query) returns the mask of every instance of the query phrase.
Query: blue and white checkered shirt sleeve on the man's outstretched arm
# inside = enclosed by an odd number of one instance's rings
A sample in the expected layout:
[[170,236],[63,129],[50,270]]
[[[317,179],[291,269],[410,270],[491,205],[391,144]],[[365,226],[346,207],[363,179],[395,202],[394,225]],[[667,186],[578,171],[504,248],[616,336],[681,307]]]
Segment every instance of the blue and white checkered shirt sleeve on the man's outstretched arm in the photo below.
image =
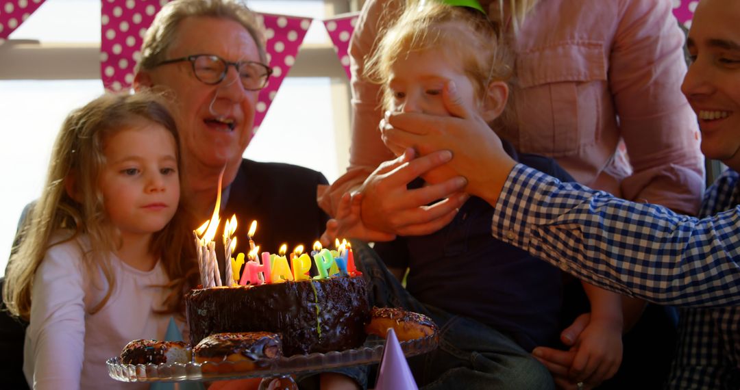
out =
[[628,202],[525,165],[495,206],[495,238],[585,281],[659,304],[740,304],[740,210],[704,219]]

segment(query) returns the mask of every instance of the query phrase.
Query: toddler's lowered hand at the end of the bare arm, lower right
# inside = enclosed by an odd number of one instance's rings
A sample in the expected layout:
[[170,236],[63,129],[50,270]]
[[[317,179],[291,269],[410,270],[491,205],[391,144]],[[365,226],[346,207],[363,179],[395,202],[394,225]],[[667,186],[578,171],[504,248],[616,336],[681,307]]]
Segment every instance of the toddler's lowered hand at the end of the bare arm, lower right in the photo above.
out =
[[613,377],[622,364],[621,321],[591,315],[571,350],[576,352],[568,372],[571,380],[598,386]]

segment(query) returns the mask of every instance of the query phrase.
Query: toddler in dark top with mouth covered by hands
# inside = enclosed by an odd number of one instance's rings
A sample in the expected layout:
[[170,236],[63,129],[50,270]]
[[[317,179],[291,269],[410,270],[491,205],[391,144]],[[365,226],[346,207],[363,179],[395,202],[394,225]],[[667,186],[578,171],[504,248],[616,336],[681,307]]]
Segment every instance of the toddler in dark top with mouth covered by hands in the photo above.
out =
[[[459,116],[461,113],[451,112],[443,100],[446,88],[453,85],[465,105],[477,107],[474,114],[495,130],[508,117],[506,102],[510,88],[506,81],[512,77],[513,66],[506,48],[491,42],[501,42],[498,27],[479,10],[436,1],[423,5],[411,3],[383,34],[364,72],[383,86],[385,109]],[[388,148],[397,155],[405,152],[394,145]],[[517,154],[511,147],[508,152],[515,160],[572,181],[554,160]],[[431,171],[423,176],[424,181],[437,183],[457,176],[445,169]],[[337,219],[327,225],[327,231],[338,231],[340,236],[368,236],[369,230],[361,225],[359,218],[360,202],[361,194],[351,200],[349,195],[343,196]],[[448,326],[445,321],[452,324],[443,333],[440,349],[444,351],[447,342],[457,343],[456,351],[440,358],[454,359],[456,353],[460,357],[465,351],[469,360],[480,359],[481,355],[491,363],[508,360],[505,364],[479,363],[468,367],[471,374],[460,374],[455,379],[460,388],[474,386],[476,380],[486,383],[487,378],[489,386],[493,386],[502,377],[507,380],[497,383],[497,389],[545,388],[546,383],[522,382],[520,373],[526,370],[521,365],[531,362],[521,357],[520,351],[531,352],[535,346],[552,345],[556,341],[562,303],[561,275],[527,253],[492,239],[491,213],[488,203],[472,197],[452,222],[436,233],[377,243],[375,250],[391,271],[409,269],[406,290],[413,298],[410,301],[401,298],[400,304],[424,310],[437,322],[442,321],[438,325],[443,329]],[[622,304],[615,293],[588,284],[584,288],[592,311],[588,326],[575,341],[573,348],[577,352],[573,364],[565,367],[565,373],[571,369],[571,373],[588,378],[588,384],[592,385],[611,377],[621,363]],[[414,299],[422,305],[418,306]],[[479,327],[475,331],[478,335],[465,337],[462,333],[470,330],[454,327],[456,315],[479,321],[488,330]],[[518,346],[506,343],[505,339],[515,341]],[[468,355],[460,359],[464,361]],[[411,366],[417,383],[424,385],[432,381],[445,383],[445,380],[455,383],[451,378],[456,374],[445,369],[459,368],[465,363]],[[575,381],[566,379],[565,373],[554,373],[556,384],[575,386]],[[533,380],[534,376],[527,380]],[[470,379],[474,377],[477,379]]]

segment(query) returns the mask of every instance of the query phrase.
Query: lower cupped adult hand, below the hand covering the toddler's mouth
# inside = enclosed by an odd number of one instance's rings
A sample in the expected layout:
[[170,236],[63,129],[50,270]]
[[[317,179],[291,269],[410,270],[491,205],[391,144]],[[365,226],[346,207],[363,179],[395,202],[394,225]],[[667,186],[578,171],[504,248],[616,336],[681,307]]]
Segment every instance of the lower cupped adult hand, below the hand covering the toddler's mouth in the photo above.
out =
[[[448,163],[451,154],[437,151],[414,157],[408,149],[397,159],[380,164],[357,191],[363,196],[360,216],[364,227],[402,236],[434,233],[450,223],[468,199],[460,192],[465,187],[462,177],[409,190],[409,182]],[[437,199],[443,200],[428,205]]]

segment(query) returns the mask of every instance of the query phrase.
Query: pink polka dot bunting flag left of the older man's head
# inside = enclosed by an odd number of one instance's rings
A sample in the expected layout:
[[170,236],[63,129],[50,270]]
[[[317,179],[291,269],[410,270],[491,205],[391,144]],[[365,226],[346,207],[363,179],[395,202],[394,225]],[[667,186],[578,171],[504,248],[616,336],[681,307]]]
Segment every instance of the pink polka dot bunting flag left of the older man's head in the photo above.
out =
[[154,16],[167,0],[102,0],[100,74],[106,89],[128,89],[139,49]]

